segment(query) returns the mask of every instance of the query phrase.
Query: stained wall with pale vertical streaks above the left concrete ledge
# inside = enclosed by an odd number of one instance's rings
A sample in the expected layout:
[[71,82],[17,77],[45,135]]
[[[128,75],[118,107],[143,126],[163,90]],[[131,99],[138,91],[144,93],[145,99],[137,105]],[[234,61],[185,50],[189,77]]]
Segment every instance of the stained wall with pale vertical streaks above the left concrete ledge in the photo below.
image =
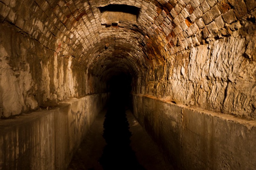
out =
[[0,30],[0,118],[102,92],[104,85],[72,64],[72,56],[60,56],[11,25],[0,24]]

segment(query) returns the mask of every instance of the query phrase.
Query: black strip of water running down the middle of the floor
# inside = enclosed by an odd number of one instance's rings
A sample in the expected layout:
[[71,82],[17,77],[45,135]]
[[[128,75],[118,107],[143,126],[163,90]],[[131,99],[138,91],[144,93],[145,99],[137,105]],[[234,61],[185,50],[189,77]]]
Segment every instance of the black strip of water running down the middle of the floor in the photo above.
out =
[[131,132],[125,114],[125,104],[122,102],[120,98],[112,98],[109,104],[103,133],[107,145],[99,163],[105,170],[144,170],[130,146]]

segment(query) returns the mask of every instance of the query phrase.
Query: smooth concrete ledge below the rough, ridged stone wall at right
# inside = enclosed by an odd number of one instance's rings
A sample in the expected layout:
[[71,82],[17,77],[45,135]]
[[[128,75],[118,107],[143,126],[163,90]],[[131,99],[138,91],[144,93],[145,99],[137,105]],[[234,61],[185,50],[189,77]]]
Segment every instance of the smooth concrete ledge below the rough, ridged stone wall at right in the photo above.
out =
[[256,122],[152,96],[134,115],[177,169],[256,169]]

